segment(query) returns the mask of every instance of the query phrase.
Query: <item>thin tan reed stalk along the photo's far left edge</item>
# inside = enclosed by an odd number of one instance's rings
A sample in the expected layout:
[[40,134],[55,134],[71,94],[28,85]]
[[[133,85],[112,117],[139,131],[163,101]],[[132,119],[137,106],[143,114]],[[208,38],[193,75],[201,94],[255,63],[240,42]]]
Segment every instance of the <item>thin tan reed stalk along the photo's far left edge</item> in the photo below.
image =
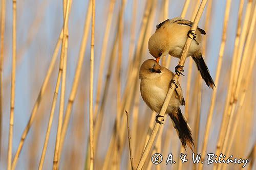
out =
[[[3,123],[3,62],[4,62],[4,40],[5,40],[5,0],[1,4],[1,44],[0,44],[0,155],[2,146],[2,123]],[[1,156],[0,156],[1,157]]]

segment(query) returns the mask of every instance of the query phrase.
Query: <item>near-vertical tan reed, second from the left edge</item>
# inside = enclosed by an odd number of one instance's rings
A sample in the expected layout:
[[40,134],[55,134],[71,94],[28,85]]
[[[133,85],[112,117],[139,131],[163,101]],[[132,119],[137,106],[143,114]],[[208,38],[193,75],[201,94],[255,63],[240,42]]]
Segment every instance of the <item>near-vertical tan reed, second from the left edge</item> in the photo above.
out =
[[16,79],[16,0],[12,1],[12,78],[11,78],[11,104],[10,104],[10,123],[8,139],[7,169],[12,165],[12,139],[14,122],[14,100],[15,100],[15,79]]

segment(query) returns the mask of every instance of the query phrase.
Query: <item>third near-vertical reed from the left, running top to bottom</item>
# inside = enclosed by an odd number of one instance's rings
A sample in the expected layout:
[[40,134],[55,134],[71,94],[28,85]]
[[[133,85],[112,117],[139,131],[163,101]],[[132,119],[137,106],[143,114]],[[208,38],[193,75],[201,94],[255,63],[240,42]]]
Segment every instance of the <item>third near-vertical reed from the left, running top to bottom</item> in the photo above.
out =
[[[58,128],[56,134],[55,141],[55,150],[54,150],[54,158],[53,158],[53,169],[59,168],[59,143],[60,143],[60,135],[62,129],[63,122],[63,112],[64,112],[64,103],[65,103],[65,86],[66,86],[66,69],[67,69],[67,51],[68,51],[68,22],[69,22],[69,13],[71,1],[63,0],[63,38],[61,45],[61,53],[60,53],[60,64],[59,64],[59,73],[62,76],[61,80],[61,90],[60,90],[60,104],[59,104],[59,120],[58,120]],[[66,9],[66,10],[65,10]],[[60,79],[60,78],[59,78]],[[59,81],[60,82],[60,81]]]

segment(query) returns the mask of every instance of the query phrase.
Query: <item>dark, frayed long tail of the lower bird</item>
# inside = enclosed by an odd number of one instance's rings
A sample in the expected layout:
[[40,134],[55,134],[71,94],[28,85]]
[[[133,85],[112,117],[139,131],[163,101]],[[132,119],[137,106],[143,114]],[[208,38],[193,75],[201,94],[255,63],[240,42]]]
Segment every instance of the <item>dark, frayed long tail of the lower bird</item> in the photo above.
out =
[[186,121],[186,118],[181,113],[180,108],[178,107],[173,113],[168,113],[170,118],[172,119],[174,128],[176,129],[178,136],[180,138],[180,141],[186,150],[186,147],[191,149],[193,151],[194,147],[194,140],[192,138],[191,129]]

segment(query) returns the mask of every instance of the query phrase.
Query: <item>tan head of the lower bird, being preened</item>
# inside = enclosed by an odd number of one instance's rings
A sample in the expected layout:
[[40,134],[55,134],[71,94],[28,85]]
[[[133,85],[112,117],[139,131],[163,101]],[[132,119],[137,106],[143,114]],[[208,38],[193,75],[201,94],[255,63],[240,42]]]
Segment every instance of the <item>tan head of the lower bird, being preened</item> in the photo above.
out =
[[156,60],[148,59],[140,66],[140,79],[142,78],[155,78],[161,74],[161,65]]

